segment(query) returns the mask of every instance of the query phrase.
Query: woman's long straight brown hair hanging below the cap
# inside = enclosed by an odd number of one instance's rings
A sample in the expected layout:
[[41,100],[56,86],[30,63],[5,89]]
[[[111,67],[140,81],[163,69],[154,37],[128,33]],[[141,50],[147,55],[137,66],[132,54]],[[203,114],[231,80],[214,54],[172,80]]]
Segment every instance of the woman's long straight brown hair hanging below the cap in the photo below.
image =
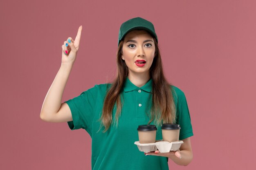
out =
[[[164,77],[162,59],[159,51],[157,41],[155,43],[155,57],[150,67],[150,77],[152,78],[152,107],[150,108],[150,121],[154,120],[157,126],[162,123],[175,123],[175,104],[173,101],[173,92],[170,84]],[[118,124],[118,118],[121,114],[121,90],[128,76],[128,67],[124,60],[121,59],[122,47],[124,40],[122,40],[117,50],[117,77],[113,81],[109,91],[106,94],[103,110],[101,115],[101,127],[105,127],[103,132],[106,132],[112,124],[112,111],[116,105],[115,124]]]

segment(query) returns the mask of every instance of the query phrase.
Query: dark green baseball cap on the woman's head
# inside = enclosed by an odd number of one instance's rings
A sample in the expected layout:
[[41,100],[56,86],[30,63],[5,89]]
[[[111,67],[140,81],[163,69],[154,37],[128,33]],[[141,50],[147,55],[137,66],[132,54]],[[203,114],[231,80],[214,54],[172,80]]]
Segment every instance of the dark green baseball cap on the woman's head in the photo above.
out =
[[157,34],[155,33],[154,25],[148,20],[137,17],[137,18],[132,18],[121,25],[119,30],[119,35],[118,35],[118,45],[120,41],[124,38],[126,33],[134,29],[146,30],[152,35],[152,37],[154,37],[157,40]]

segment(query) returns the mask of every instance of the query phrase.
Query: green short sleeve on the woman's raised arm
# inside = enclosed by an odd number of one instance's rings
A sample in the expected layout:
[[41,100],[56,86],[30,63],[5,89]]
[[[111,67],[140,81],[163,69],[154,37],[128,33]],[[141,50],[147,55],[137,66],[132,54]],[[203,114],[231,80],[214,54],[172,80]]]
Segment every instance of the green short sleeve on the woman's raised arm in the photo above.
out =
[[73,121],[68,121],[67,124],[71,130],[85,129],[90,135],[92,132],[92,119],[94,116],[94,108],[97,101],[98,88],[93,88],[84,91],[79,96],[67,100],[65,103],[70,107]]

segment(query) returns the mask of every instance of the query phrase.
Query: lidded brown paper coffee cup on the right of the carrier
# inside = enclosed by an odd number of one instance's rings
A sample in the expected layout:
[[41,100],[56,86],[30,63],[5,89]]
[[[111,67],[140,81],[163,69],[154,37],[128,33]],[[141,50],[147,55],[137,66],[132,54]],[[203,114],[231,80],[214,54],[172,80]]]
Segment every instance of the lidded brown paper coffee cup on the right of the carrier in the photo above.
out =
[[162,125],[163,141],[174,142],[179,141],[180,125],[178,124],[163,124]]

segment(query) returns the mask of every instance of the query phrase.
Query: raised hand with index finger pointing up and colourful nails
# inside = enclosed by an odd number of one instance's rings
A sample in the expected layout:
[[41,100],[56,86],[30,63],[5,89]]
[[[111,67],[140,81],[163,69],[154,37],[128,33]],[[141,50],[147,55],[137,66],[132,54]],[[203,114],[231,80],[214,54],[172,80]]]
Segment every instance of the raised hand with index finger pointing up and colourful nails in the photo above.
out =
[[79,49],[79,43],[81,38],[82,26],[79,26],[76,39],[73,40],[71,37],[64,41],[62,47],[62,59],[61,64],[74,64],[76,60],[76,54]]

